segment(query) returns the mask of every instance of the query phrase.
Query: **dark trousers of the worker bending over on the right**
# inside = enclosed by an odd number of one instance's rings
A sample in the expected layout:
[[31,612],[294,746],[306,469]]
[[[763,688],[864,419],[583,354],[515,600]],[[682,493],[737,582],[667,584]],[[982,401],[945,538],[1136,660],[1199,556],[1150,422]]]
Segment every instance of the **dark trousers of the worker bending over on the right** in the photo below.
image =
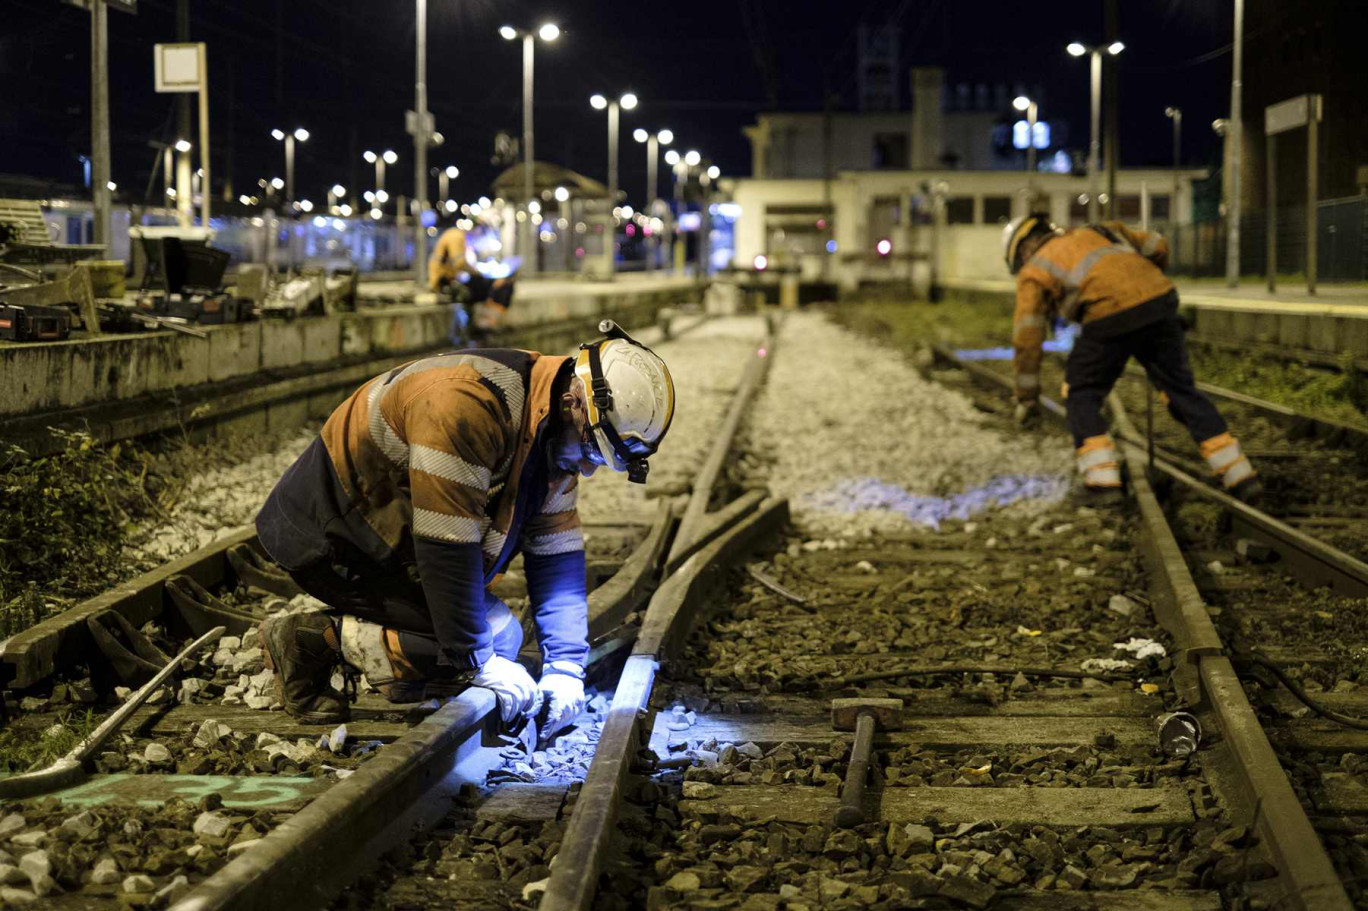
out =
[[1114,338],[1089,338],[1086,326],[1078,334],[1064,368],[1068,430],[1075,447],[1089,436],[1107,432],[1103,402],[1131,357],[1145,368],[1155,388],[1168,397],[1168,413],[1187,428],[1197,443],[1226,432],[1226,419],[1197,390],[1187,362],[1183,326],[1176,315],[1170,315]]

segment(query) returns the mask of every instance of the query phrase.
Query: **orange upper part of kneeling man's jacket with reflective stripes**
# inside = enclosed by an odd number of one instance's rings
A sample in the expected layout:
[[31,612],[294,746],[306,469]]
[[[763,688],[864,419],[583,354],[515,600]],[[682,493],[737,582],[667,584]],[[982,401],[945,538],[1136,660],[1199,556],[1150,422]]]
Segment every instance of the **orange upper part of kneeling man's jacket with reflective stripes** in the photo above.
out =
[[[338,480],[391,554],[412,553],[413,536],[480,544],[487,577],[508,564],[523,466],[568,361],[512,349],[427,357],[372,379],[332,413],[321,436]],[[576,486],[577,475],[553,472],[514,544],[583,550]]]

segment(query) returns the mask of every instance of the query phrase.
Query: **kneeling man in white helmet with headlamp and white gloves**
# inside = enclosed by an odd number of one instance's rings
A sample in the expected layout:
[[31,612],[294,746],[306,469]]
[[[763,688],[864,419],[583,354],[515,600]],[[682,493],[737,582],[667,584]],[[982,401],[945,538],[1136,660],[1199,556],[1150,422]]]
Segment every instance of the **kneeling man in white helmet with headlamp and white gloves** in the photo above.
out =
[[[337,724],[339,666],[391,702],[466,685],[505,722],[584,707],[588,602],[576,484],[601,465],[644,483],[674,413],[665,362],[610,320],[575,357],[514,349],[397,367],[343,402],[257,516],[261,544],[327,609],[261,624],[286,713]],[[487,587],[521,551],[542,650]]]

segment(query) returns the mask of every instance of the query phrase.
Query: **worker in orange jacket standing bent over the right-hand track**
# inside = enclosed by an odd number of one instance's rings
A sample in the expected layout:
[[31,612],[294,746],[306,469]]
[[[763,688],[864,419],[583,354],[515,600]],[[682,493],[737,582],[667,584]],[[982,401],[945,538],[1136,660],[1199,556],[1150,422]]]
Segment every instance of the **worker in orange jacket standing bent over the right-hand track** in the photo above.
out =
[[1261,486],[1220,412],[1202,395],[1187,362],[1178,291],[1164,276],[1168,241],[1120,222],[1060,230],[1036,212],[1004,234],[1007,268],[1016,276],[1012,347],[1018,420],[1038,413],[1041,346],[1047,323],[1082,323],[1064,369],[1068,430],[1085,488],[1100,497],[1120,488],[1120,460],[1101,408],[1134,357],[1216,472],[1226,491],[1250,501]]

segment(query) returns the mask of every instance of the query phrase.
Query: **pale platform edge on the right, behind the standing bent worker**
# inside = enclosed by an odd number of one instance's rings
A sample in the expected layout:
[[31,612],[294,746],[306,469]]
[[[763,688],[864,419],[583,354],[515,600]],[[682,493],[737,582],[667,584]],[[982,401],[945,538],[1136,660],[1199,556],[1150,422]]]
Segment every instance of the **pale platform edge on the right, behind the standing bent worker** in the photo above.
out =
[[[1220,280],[1178,280],[1178,297],[1202,341],[1267,350],[1311,362],[1345,357],[1368,361],[1368,285],[1326,285],[1308,294],[1285,285],[1270,294],[1253,280],[1228,289]],[[1010,305],[1011,280],[948,280],[952,300]]]

